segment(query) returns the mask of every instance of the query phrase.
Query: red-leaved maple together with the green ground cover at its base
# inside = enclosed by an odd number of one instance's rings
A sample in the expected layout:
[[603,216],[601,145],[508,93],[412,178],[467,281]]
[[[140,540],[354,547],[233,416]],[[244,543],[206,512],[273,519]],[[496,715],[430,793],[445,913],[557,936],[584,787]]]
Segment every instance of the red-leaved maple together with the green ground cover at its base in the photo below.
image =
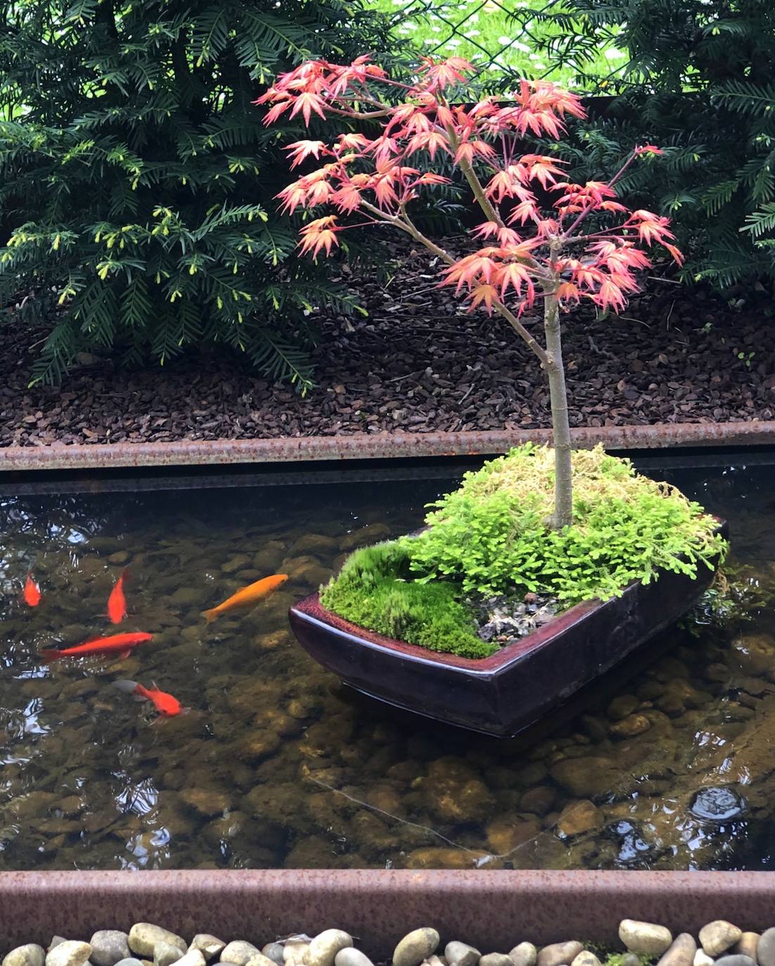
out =
[[[451,98],[470,71],[460,58],[427,58],[404,83],[367,57],[346,66],[314,60],[280,76],[258,103],[270,105],[268,125],[287,112],[307,126],[316,115],[346,128],[329,143],[288,147],[292,167],[311,167],[310,158],[321,164],[280,192],[283,209],[330,212],[303,225],[302,251],[328,256],[356,226],[402,232],[441,263],[440,284],[471,310],[501,316],[546,372],[552,451],[523,447],[469,474],[420,538],[354,554],[322,594],[331,610],[372,630],[481,657],[493,645],[474,635],[472,595],[537,591],[567,606],[616,595],[665,569],[711,567],[723,541],[701,507],[639,477],[626,461],[602,451],[585,454],[581,465],[582,454],[571,458],[562,317],[582,300],[620,311],[638,291],[636,272],[650,267],[647,248],[681,261],[667,218],[617,200],[624,171],[659,149],[636,147],[608,183],[571,183],[562,162],[519,155],[514,145],[528,134],[559,138],[567,115],[584,116],[579,99],[526,80],[508,103],[460,106]],[[368,137],[353,122],[378,125],[379,133]],[[481,246],[463,256],[423,234],[410,213],[421,193],[449,183],[433,170],[441,156],[462,174],[481,213],[471,232]],[[541,302],[543,344],[522,321]]]

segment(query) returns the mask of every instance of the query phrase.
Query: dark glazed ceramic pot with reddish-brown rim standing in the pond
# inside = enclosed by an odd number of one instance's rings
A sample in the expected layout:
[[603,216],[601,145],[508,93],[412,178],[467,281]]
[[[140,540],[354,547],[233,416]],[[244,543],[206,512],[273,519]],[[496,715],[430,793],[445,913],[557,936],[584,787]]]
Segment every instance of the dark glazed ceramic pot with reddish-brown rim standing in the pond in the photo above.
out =
[[[726,535],[726,525],[719,522]],[[361,694],[449,725],[508,737],[523,730],[690,609],[713,579],[663,573],[620,597],[585,601],[487,658],[443,654],[375,634],[326,610],[317,594],[289,611],[316,661]]]

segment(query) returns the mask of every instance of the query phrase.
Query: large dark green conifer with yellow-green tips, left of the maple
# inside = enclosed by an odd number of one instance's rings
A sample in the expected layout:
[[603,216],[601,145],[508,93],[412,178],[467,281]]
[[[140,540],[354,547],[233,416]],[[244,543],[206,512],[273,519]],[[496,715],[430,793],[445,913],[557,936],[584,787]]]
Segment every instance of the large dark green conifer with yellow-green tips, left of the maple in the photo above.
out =
[[385,50],[384,23],[360,0],[0,0],[0,310],[55,315],[36,380],[221,342],[308,384],[305,317],[347,300],[292,254],[251,101],[310,54]]

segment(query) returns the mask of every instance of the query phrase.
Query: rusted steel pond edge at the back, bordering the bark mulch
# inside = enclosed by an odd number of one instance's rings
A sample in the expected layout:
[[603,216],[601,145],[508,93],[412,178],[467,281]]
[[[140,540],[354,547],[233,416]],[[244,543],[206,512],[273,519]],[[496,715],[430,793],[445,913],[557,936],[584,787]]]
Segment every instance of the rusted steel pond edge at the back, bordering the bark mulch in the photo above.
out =
[[[579,448],[752,446],[775,442],[775,421],[662,423],[656,426],[582,426],[571,430]],[[322,460],[387,460],[401,457],[486,456],[532,440],[550,442],[551,430],[482,430],[465,433],[359,433],[278,440],[177,440],[114,442],[0,449],[0,471],[121,469],[126,467],[227,466]]]

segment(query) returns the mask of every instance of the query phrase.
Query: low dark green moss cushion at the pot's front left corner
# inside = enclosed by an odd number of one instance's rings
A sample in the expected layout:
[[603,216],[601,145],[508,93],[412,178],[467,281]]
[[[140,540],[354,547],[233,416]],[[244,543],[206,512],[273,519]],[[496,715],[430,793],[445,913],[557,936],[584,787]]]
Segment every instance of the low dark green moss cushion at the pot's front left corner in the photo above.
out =
[[364,547],[348,557],[321,591],[324,607],[370,631],[433,651],[483,658],[498,647],[476,637],[474,620],[456,600],[459,587],[411,579],[409,540]]

